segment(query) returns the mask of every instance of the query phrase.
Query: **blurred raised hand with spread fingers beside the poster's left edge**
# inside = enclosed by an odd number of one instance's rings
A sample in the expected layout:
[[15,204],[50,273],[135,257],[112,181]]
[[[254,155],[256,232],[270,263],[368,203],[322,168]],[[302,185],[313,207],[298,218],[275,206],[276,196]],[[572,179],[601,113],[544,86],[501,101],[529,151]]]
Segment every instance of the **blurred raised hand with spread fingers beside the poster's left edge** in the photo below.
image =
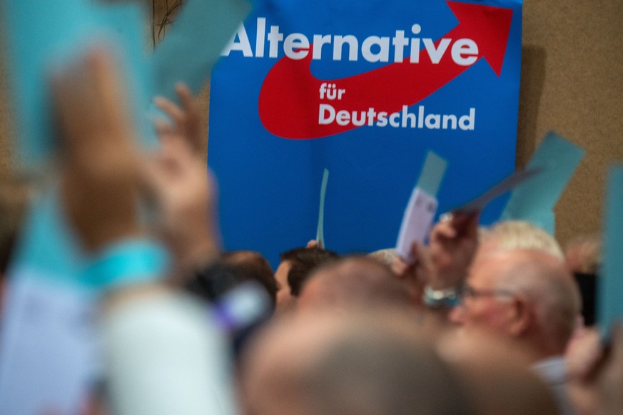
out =
[[182,108],[166,98],[157,105],[174,121],[155,121],[162,148],[148,160],[144,178],[157,206],[157,232],[178,265],[188,270],[218,254],[216,180],[199,155],[198,111],[186,86],[178,86]]

